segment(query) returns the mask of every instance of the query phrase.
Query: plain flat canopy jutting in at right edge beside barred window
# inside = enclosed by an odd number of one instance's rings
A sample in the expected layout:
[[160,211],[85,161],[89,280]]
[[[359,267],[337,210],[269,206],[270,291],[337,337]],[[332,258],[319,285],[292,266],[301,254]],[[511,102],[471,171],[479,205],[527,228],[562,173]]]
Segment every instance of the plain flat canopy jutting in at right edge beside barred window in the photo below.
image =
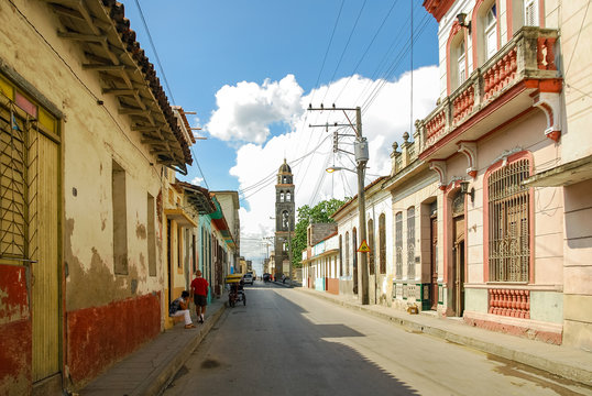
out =
[[592,178],[592,155],[530,176],[522,184],[528,187],[560,187]]

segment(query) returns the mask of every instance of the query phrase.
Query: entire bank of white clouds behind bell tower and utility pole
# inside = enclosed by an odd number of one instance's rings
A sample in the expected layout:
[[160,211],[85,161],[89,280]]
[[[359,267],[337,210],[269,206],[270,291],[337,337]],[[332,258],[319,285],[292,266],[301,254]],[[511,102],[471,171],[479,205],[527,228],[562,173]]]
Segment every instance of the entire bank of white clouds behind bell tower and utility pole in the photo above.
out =
[[[332,154],[332,132],[335,128],[308,128],[309,123],[346,123],[342,112],[306,111],[308,103],[318,107],[321,98],[325,106],[362,108],[363,135],[368,138],[370,162],[366,184],[375,179],[372,175],[388,175],[393,142],[403,142],[402,135],[409,131],[409,73],[396,81],[372,81],[365,77],[343,78],[329,86],[303,96],[303,89],[294,76],[288,75],[279,82],[266,80],[262,86],[254,82],[240,82],[237,87],[224,86],[217,94],[219,109],[212,113],[208,131],[222,140],[241,139],[249,143],[237,151],[235,166],[230,174],[235,176],[243,208],[240,210],[241,235],[249,238],[273,235],[275,216],[275,175],[284,161],[284,155],[294,173],[296,185],[296,208],[303,205],[316,205],[319,200],[331,197],[343,198],[357,194],[355,174],[336,172],[327,174],[326,167],[339,165],[353,168],[353,157],[349,154]],[[374,87],[382,86],[368,106],[366,98]],[[436,66],[423,67],[414,72],[414,117],[424,118],[435,108],[438,97],[438,69]],[[341,92],[341,94],[340,94]],[[339,95],[339,97],[338,97]],[[349,112],[351,122],[355,123],[355,113]],[[290,132],[272,136],[270,125],[286,122]],[[340,133],[352,134],[346,128]],[[340,141],[340,148],[353,151],[351,138]],[[299,160],[318,148],[314,154]],[[245,207],[245,202],[246,206]],[[272,248],[273,249],[273,248]],[[255,262],[264,256],[264,251],[252,244],[241,245],[241,254]]]

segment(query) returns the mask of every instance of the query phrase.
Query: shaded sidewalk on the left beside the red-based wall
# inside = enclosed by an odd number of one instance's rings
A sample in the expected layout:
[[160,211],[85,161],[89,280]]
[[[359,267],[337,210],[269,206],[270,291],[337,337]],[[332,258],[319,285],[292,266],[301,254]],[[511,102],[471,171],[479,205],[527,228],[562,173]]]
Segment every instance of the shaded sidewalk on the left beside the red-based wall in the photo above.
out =
[[160,395],[169,380],[189,359],[209,330],[224,311],[226,295],[208,305],[206,320],[197,323],[191,305],[191,319],[196,329],[186,330],[179,322],[160,333],[78,392],[87,396]]

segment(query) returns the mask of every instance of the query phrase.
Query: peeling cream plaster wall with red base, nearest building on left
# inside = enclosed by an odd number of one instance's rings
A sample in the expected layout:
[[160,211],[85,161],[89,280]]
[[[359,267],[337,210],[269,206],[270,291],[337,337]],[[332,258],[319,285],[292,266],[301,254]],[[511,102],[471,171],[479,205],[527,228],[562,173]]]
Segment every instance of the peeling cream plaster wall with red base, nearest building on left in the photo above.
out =
[[[24,0],[14,0],[14,4],[22,14],[0,2],[0,62],[64,113],[65,289],[61,297],[66,317],[64,339],[68,342],[63,366],[81,384],[162,329],[162,222],[155,226],[156,276],[149,276],[145,231],[146,197],[161,193],[161,165],[151,165],[155,158],[141,143],[141,134],[130,130],[130,118],[118,113],[116,98],[101,94],[99,75],[83,69],[85,59],[78,43],[57,37],[59,23],[50,8]],[[95,96],[103,103],[98,105]],[[113,161],[125,172],[125,275],[113,271]],[[13,382],[13,393],[31,383],[31,322],[18,318],[24,316],[23,309],[2,302],[0,310],[0,393],[9,381]],[[92,340],[100,351],[79,342],[84,339]],[[12,348],[21,354],[17,361],[10,359]]]

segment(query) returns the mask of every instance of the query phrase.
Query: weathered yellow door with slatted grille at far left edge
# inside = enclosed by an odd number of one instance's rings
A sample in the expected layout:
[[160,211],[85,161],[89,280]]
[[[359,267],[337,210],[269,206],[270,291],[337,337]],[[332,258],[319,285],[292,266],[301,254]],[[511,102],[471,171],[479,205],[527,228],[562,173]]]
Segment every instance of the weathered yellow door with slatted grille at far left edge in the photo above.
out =
[[0,262],[31,274],[32,380],[61,367],[57,120],[0,78]]

